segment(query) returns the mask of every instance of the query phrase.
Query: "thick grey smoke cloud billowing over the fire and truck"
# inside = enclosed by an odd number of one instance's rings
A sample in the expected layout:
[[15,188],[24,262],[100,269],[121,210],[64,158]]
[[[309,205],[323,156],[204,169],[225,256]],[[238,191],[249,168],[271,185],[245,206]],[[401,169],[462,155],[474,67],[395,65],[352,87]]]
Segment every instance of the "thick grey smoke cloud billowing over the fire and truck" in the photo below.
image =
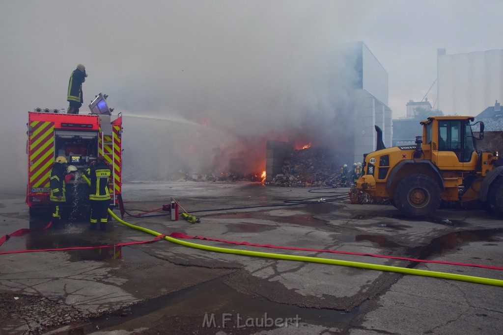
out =
[[363,5],[49,4],[3,5],[4,187],[26,185],[26,111],[67,107],[77,63],[89,74],[82,110],[103,92],[124,115],[126,181],[259,172],[267,140],[337,145],[351,128],[337,46],[354,40]]

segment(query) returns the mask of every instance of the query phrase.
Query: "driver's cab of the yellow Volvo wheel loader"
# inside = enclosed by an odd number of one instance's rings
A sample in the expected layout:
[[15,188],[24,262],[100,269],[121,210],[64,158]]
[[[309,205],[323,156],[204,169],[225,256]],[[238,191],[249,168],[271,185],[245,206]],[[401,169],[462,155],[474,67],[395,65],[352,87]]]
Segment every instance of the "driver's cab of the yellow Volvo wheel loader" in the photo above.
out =
[[478,155],[471,117],[431,117],[424,122],[432,162],[441,170],[475,170]]

